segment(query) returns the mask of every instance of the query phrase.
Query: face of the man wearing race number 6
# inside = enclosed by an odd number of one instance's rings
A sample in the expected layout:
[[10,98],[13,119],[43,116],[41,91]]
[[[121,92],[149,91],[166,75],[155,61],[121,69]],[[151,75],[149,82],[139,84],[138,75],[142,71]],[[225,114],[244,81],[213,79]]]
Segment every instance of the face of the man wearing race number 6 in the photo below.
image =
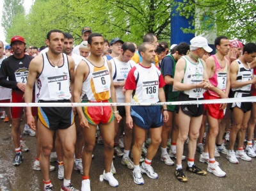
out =
[[102,36],[93,36],[91,45],[87,45],[94,56],[101,56],[104,49],[104,38]]

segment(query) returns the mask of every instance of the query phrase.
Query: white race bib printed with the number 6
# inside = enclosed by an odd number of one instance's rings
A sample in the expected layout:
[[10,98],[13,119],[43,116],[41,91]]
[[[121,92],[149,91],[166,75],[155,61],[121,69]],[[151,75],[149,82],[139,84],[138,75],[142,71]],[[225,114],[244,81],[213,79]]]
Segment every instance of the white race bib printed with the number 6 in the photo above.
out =
[[111,79],[108,70],[101,70],[92,73],[92,80],[96,93],[109,91]]

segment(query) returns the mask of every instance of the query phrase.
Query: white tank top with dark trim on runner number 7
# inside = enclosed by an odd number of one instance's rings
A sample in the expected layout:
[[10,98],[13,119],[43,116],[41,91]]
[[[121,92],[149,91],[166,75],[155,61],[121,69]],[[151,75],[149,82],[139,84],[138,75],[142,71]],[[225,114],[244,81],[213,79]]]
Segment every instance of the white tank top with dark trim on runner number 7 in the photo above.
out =
[[69,100],[70,73],[67,54],[62,53],[63,65],[57,69],[51,65],[46,53],[43,56],[43,70],[36,79],[36,100]]

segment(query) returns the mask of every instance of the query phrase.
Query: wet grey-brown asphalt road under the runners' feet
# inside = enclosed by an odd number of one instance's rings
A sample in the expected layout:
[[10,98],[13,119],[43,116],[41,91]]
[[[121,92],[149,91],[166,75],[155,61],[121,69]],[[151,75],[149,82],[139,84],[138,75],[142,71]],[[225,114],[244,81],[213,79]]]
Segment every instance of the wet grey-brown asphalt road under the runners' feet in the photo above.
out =
[[[22,123],[22,128],[24,124]],[[24,160],[21,165],[15,167],[12,160],[15,155],[13,142],[11,140],[11,128],[9,124],[0,121],[0,190],[42,190],[43,178],[40,171],[33,170],[33,162],[36,157],[36,138],[29,135],[23,136],[24,141],[29,146],[30,151],[23,153]],[[227,173],[225,178],[218,178],[211,173],[207,176],[198,176],[191,172],[186,172],[188,176],[187,183],[180,183],[174,175],[175,165],[168,166],[161,162],[161,151],[157,152],[152,161],[152,167],[159,174],[157,180],[152,180],[143,175],[145,185],[136,185],[133,182],[132,170],[127,169],[121,164],[122,157],[115,157],[114,164],[116,167],[116,180],[119,181],[119,187],[113,188],[108,185],[107,181],[99,181],[99,176],[104,171],[103,145],[96,144],[93,154],[90,170],[91,189],[92,190],[256,190],[255,167],[256,158],[252,162],[246,162],[239,159],[239,164],[231,164],[226,159],[226,155],[216,158],[220,163],[221,169]],[[185,144],[184,155],[188,154],[188,146]],[[200,154],[196,152],[196,165],[207,170],[207,164],[199,162]],[[174,160],[175,161],[175,160]],[[51,172],[51,180],[54,190],[60,190],[62,181],[58,180],[58,164],[51,163],[56,167]],[[186,161],[182,162],[186,167]],[[81,188],[81,174],[78,171],[72,173],[72,183],[77,189]]]

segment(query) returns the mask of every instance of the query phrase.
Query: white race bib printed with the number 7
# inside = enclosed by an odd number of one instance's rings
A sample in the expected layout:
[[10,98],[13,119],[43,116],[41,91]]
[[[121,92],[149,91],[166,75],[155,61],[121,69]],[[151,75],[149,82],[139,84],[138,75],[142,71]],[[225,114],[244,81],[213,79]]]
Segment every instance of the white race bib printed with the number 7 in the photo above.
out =
[[69,82],[66,74],[47,77],[47,80],[51,99],[59,100],[64,96],[70,95]]

